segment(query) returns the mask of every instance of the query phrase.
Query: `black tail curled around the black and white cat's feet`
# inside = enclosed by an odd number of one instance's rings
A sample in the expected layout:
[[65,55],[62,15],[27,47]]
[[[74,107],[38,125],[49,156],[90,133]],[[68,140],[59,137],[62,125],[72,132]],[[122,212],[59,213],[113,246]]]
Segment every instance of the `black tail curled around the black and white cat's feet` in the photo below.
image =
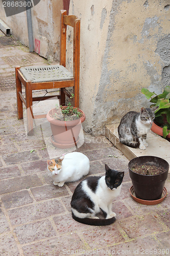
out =
[[78,221],[83,224],[91,225],[91,226],[107,226],[115,222],[116,218],[110,218],[110,219],[91,219],[91,218],[79,218],[74,215],[72,212],[72,218],[75,221]]

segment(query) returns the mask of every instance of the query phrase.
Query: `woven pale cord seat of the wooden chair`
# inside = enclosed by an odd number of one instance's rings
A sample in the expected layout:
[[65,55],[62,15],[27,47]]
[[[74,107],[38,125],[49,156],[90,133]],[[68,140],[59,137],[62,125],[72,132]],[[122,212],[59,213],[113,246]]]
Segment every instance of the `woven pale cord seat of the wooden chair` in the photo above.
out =
[[50,82],[74,79],[72,73],[61,65],[22,67],[20,68],[20,72],[26,80],[30,80],[32,82]]

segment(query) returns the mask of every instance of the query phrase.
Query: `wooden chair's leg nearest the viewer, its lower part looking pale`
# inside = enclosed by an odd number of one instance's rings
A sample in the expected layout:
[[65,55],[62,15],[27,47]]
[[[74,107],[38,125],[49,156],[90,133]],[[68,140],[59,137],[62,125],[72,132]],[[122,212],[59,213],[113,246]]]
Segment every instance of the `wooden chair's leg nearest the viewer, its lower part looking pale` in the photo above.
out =
[[26,82],[26,113],[27,113],[27,134],[34,135],[33,131],[33,98],[32,98],[32,83]]

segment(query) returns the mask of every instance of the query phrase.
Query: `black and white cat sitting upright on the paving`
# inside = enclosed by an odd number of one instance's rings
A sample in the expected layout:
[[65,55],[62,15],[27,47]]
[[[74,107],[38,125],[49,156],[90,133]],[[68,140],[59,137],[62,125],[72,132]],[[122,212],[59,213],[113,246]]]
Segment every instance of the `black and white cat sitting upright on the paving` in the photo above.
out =
[[[110,169],[107,164],[105,169],[105,176],[88,177],[76,187],[71,199],[72,218],[76,221],[94,226],[110,225],[115,221],[112,202],[120,194],[124,172]],[[96,216],[101,211],[105,219]]]

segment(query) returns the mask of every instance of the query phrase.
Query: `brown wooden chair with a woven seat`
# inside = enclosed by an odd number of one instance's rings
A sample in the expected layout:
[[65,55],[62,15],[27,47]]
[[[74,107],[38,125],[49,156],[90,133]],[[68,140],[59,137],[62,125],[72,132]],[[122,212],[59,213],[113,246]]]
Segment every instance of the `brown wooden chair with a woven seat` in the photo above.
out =
[[[66,30],[67,26],[74,28],[73,40],[73,74],[66,68]],[[33,135],[33,119],[44,118],[46,115],[33,114],[33,101],[45,100],[54,97],[44,96],[33,97],[34,90],[59,88],[60,104],[65,105],[65,95],[71,96],[66,88],[73,88],[75,97],[73,104],[79,108],[79,74],[80,74],[80,19],[75,15],[66,15],[65,10],[61,10],[60,23],[60,65],[41,67],[15,67],[16,96],[18,119],[23,118],[22,103],[27,109],[27,133]],[[25,97],[22,93],[22,84],[25,87]]]

